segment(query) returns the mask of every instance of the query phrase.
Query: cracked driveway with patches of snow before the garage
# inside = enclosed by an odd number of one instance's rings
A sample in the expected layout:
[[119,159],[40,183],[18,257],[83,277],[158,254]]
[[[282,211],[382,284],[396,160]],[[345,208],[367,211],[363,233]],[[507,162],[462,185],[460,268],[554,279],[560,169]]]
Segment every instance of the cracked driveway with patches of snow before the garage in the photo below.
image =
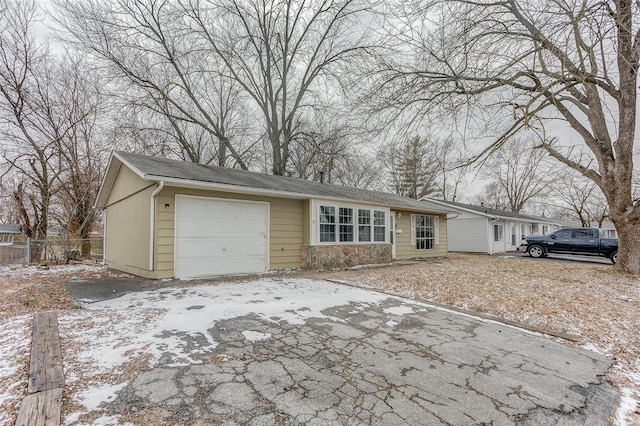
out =
[[[121,320],[117,336],[79,356],[152,357],[93,407],[114,423],[601,425],[617,400],[596,353],[324,281],[165,288],[86,306],[94,319],[147,318]],[[76,320],[61,326],[81,340]]]

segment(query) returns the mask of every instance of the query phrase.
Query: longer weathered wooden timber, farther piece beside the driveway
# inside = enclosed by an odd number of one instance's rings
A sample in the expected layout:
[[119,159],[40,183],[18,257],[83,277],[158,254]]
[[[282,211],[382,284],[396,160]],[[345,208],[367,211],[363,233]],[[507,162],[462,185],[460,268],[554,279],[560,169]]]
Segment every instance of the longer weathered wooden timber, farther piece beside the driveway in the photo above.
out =
[[42,392],[63,386],[64,373],[58,336],[58,317],[55,312],[38,312],[33,318],[27,391]]

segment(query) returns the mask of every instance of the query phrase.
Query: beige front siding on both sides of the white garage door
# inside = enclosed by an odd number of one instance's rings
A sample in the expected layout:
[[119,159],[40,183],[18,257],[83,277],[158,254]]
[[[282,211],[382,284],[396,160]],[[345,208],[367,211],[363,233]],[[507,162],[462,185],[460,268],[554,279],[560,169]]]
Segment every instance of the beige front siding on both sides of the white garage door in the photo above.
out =
[[156,198],[157,278],[172,277],[174,259],[175,196],[263,201],[269,203],[269,269],[299,268],[302,251],[302,200],[165,187]]

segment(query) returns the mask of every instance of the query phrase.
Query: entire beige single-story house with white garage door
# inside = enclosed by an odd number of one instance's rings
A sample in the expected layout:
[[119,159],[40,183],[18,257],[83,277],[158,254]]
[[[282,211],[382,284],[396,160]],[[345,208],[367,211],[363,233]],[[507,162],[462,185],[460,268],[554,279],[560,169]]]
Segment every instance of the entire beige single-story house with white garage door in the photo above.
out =
[[148,278],[336,268],[447,253],[441,205],[113,153],[96,205],[109,267]]

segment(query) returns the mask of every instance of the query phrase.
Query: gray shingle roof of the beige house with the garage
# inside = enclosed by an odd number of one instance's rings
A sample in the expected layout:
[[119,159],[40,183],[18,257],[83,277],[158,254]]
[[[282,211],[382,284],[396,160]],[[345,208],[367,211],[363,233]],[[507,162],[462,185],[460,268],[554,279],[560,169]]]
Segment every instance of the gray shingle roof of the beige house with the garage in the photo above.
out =
[[184,181],[215,183],[256,188],[294,195],[307,195],[316,198],[343,199],[354,202],[366,202],[387,207],[404,208],[433,213],[452,213],[453,210],[438,204],[418,201],[380,191],[348,188],[339,185],[320,183],[305,179],[274,176],[245,170],[229,169],[178,160],[149,157],[118,151],[116,157],[138,170],[146,180],[160,181],[166,178]]

